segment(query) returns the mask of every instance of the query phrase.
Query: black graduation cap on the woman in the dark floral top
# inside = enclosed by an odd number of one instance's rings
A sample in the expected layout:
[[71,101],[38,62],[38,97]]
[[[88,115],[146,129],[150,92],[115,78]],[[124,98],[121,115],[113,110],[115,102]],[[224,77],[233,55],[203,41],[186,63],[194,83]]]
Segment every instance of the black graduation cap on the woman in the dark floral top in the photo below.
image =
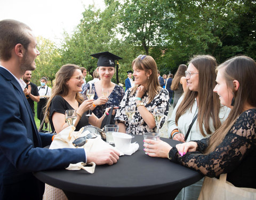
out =
[[99,59],[97,63],[98,67],[115,67],[115,60],[122,59],[113,53],[109,53],[108,51],[91,54],[91,56]]

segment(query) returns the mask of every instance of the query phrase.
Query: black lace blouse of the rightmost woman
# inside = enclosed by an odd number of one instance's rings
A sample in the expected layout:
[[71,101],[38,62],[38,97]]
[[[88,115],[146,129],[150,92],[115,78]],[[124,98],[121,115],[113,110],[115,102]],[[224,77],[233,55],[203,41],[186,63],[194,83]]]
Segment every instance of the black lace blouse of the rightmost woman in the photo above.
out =
[[244,111],[220,145],[204,155],[209,138],[195,141],[197,151],[182,157],[173,147],[171,161],[194,169],[207,177],[227,173],[227,181],[236,187],[256,188],[256,109]]

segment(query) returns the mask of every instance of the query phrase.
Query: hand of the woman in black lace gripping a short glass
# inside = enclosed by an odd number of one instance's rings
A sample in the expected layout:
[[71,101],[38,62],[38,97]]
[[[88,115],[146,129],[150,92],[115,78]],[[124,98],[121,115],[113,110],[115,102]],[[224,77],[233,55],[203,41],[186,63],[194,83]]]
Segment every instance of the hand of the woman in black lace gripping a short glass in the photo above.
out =
[[162,140],[144,140],[144,151],[151,157],[161,157],[161,158],[167,158],[169,151],[172,149],[172,146],[170,146],[168,143],[162,141]]

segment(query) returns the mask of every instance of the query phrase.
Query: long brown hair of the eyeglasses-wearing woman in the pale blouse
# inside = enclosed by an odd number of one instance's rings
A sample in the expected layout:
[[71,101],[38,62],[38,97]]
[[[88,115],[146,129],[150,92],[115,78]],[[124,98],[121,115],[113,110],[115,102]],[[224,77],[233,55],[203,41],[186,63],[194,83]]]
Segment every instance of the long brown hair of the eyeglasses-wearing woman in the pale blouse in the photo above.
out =
[[217,93],[213,92],[215,79],[217,77],[215,69],[217,62],[211,55],[196,55],[189,63],[192,63],[199,73],[198,92],[188,90],[180,103],[175,123],[189,108],[192,109],[193,102],[198,96],[198,116],[197,123],[201,134],[205,137],[203,125],[207,134],[211,134],[210,122],[212,119],[214,129],[217,130],[220,125],[219,111],[220,100]]

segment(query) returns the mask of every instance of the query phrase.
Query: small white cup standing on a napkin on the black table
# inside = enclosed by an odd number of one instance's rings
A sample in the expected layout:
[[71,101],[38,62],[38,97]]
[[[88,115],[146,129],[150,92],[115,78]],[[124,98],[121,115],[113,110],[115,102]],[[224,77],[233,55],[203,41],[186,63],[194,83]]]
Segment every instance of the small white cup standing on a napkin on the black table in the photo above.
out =
[[114,132],[112,133],[115,142],[115,147],[121,151],[127,151],[130,149],[132,135],[126,133]]

